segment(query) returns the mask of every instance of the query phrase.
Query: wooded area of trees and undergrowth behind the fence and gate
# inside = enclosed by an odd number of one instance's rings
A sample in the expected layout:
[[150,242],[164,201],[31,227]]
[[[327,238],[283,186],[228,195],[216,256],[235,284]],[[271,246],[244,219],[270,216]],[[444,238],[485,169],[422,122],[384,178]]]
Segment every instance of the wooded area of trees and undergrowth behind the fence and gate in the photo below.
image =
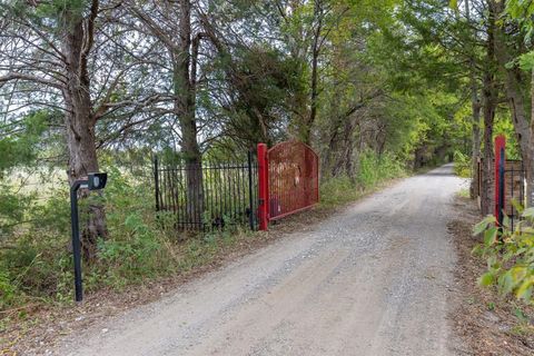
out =
[[156,221],[155,155],[190,168],[196,216],[202,161],[258,142],[310,145],[333,191],[482,157],[488,214],[505,134],[532,200],[533,13],[523,0],[1,1],[0,308],[68,294],[67,191],[91,171],[110,172],[83,199],[93,288],[172,270],[185,237]]

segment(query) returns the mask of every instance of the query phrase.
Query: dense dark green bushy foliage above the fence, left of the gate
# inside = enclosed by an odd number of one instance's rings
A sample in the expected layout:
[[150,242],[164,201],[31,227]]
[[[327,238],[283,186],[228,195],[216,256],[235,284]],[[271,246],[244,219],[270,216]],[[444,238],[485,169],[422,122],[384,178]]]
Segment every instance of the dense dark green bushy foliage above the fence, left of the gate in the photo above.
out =
[[300,60],[284,56],[267,43],[237,48],[231,56],[219,58],[211,76],[231,78],[229,87],[220,92],[233,97],[231,102],[224,107],[214,105],[211,91],[201,93],[199,100],[209,110],[228,117],[227,138],[231,139],[221,138],[221,145],[248,148],[278,139],[281,135],[266,132],[265,126],[276,127],[287,120],[295,97],[306,95],[303,66]]

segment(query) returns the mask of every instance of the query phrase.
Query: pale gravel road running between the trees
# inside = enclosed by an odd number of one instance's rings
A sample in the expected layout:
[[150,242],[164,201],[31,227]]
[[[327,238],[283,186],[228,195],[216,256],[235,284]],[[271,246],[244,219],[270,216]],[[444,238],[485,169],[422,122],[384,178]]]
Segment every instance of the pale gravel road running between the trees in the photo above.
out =
[[59,355],[457,355],[444,166],[87,330]]

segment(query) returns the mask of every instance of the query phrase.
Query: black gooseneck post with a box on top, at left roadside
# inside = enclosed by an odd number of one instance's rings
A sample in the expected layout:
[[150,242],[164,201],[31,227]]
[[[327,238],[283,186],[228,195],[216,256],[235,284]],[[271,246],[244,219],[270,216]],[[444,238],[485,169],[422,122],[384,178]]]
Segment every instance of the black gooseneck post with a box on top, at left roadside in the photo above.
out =
[[100,190],[106,187],[108,174],[89,174],[87,178],[76,180],[70,187],[70,219],[72,226],[72,254],[75,260],[75,291],[76,301],[83,299],[83,289],[81,283],[81,244],[80,226],[78,217],[78,190]]

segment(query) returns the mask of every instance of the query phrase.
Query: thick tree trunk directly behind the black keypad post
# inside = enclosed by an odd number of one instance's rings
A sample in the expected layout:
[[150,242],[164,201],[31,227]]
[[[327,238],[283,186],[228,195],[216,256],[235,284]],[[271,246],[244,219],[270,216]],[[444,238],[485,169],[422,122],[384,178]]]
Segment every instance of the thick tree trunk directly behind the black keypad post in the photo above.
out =
[[[66,102],[65,126],[69,150],[69,181],[98,171],[95,125],[90,98],[90,80],[87,72],[87,55],[90,49],[83,19],[66,11],[66,31],[62,49],[66,56],[65,73],[68,79],[63,89]],[[89,36],[92,36],[89,33]],[[92,39],[90,39],[92,41]],[[86,47],[85,47],[86,46]],[[87,198],[87,191],[80,191],[80,198]],[[106,214],[100,202],[89,202],[82,211],[86,224],[82,225],[81,244],[85,256],[92,260],[97,253],[97,239],[107,236]]]

